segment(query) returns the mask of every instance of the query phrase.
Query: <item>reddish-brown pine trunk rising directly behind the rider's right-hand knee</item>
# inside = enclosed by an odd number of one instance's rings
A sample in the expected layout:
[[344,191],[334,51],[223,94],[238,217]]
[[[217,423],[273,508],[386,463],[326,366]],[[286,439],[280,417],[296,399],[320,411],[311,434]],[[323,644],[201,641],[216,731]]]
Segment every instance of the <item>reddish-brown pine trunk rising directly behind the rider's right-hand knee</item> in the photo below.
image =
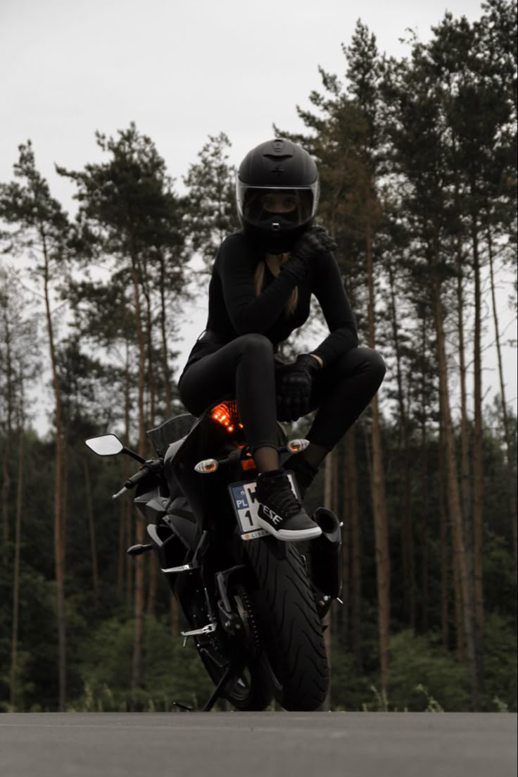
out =
[[[371,348],[375,347],[374,326],[374,272],[372,265],[372,244],[370,228],[367,226],[367,288],[369,294],[368,325]],[[381,451],[380,413],[377,396],[370,404],[372,408],[372,507],[374,516],[374,545],[377,572],[378,639],[380,649],[381,691],[387,695],[388,686],[388,641],[390,629],[390,561],[388,554],[388,527],[385,505],[384,470]]]

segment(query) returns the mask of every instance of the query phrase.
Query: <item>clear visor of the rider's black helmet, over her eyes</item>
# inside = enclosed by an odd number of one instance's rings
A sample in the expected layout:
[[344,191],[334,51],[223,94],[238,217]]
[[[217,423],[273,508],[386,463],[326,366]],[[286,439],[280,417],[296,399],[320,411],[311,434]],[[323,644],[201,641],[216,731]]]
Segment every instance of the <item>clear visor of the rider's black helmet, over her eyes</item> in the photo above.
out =
[[278,215],[294,227],[315,216],[318,204],[318,181],[305,188],[287,186],[248,186],[238,180],[236,200],[239,215],[254,226],[261,226]]

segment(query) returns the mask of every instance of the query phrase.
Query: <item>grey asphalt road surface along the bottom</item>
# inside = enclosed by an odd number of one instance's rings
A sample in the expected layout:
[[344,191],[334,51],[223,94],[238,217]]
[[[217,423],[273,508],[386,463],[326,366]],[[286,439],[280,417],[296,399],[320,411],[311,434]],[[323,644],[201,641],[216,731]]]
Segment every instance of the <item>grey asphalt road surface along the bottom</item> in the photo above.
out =
[[506,713],[0,715],[2,777],[511,777]]

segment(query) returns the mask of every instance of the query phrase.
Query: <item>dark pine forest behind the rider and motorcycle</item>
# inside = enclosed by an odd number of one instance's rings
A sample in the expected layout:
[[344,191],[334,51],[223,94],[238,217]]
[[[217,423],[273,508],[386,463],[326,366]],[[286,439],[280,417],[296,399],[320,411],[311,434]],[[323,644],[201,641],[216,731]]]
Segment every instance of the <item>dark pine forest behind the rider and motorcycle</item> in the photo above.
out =
[[[318,223],[388,367],[308,492],[342,521],[329,709],[516,710],[516,4],[447,13],[401,59],[374,33],[357,23],[342,75],[319,68],[303,133],[272,127],[318,163]],[[111,495],[134,466],[84,440],[148,457],[146,430],[185,412],[185,310],[239,227],[231,138],[207,137],[180,192],[135,124],[102,129],[98,161],[56,167],[73,217],[28,139],[0,183],[4,712],[168,711],[211,688],[154,554],[125,552],[145,525]],[[287,353],[324,331],[315,308]]]

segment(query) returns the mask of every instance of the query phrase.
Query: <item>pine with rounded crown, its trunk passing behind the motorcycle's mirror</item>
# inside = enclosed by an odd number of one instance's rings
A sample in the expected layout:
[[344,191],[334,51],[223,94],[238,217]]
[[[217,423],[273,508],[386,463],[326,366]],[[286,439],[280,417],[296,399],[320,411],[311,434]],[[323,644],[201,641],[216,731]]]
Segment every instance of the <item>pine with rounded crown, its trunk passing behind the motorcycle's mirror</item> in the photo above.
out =
[[[138,133],[134,124],[120,131],[118,138],[96,135],[108,161],[70,172],[57,168],[78,186],[80,222],[88,227],[87,249],[92,243],[103,256],[115,263],[132,290],[132,307],[137,343],[137,451],[146,455],[145,429],[153,423],[155,374],[152,350],[153,320],[151,290],[164,282],[164,260],[171,261],[174,274],[168,274],[169,292],[176,296],[183,289],[183,239],[179,230],[181,207],[172,191],[165,162],[151,139]],[[79,243],[81,247],[81,243]],[[158,285],[158,284],[157,284]],[[163,329],[162,329],[163,331]],[[162,350],[164,343],[162,343]],[[166,368],[166,380],[169,378]],[[147,387],[151,405],[146,407]],[[151,425],[151,424],[150,424]],[[144,524],[137,517],[137,542],[144,539]],[[144,623],[144,560],[135,561],[134,580],[134,658],[132,669],[133,706],[141,684],[141,646]]]

